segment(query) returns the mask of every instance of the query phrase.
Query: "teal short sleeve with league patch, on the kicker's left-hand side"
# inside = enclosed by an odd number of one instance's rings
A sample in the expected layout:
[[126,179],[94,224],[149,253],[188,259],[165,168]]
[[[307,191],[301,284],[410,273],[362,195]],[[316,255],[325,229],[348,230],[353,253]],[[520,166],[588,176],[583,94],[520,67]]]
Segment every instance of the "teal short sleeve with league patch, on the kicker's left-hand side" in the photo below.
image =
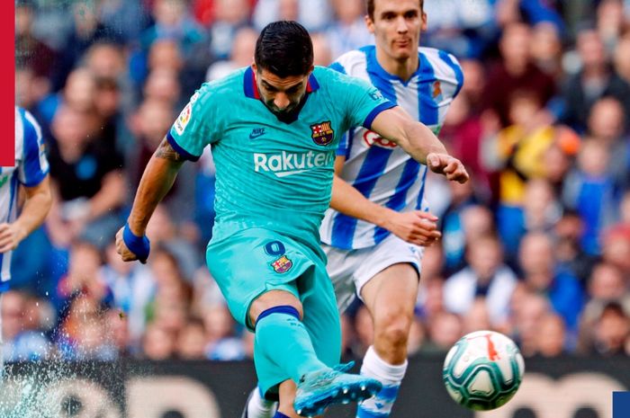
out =
[[187,160],[197,161],[203,148],[216,137],[211,129],[216,126],[211,84],[203,84],[179,113],[166,134],[168,143]]

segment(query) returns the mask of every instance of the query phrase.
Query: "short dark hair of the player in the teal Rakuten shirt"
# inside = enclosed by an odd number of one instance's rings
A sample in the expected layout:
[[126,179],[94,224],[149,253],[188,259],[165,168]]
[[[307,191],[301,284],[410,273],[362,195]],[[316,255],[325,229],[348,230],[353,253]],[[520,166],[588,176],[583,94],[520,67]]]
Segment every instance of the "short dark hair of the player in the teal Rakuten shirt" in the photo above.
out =
[[305,76],[313,65],[311,36],[298,22],[269,23],[258,36],[254,61],[281,78]]

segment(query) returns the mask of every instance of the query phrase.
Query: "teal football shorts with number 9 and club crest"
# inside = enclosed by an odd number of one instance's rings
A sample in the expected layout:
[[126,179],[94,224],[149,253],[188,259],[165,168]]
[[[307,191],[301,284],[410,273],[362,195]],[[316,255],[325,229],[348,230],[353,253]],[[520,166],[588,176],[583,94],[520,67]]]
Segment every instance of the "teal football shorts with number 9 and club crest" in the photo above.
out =
[[[285,290],[302,302],[302,323],[318,358],[329,365],[341,356],[341,326],[326,256],[288,236],[265,228],[249,228],[208,245],[206,262],[241,325],[252,329],[247,313],[252,302],[270,290]],[[258,385],[270,399],[289,377],[276,361],[255,350]]]

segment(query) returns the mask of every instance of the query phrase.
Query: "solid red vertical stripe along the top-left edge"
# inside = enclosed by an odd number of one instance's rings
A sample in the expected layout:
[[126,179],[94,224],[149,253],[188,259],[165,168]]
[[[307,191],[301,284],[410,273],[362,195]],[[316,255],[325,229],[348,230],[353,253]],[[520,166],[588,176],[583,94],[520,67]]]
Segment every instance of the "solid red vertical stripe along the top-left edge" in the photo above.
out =
[[0,1],[0,166],[15,164],[15,10]]

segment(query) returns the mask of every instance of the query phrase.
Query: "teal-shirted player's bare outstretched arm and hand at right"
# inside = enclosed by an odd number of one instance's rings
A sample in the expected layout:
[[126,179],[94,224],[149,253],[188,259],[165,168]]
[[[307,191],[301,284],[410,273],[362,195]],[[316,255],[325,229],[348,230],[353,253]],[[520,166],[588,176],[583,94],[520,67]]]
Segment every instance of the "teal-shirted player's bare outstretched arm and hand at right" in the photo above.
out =
[[431,129],[412,120],[401,108],[381,111],[374,118],[371,129],[383,138],[391,139],[434,173],[444,174],[446,179],[454,182],[468,181],[468,173],[462,162],[448,154]]

